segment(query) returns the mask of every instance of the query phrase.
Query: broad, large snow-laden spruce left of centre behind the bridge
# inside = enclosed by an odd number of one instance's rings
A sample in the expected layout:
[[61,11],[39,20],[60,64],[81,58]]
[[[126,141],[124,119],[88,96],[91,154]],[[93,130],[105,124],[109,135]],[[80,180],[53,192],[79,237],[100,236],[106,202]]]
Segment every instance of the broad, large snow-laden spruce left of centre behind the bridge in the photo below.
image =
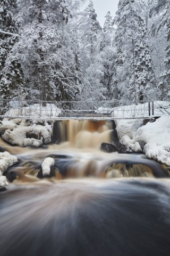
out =
[[[21,41],[29,97],[41,100],[75,100],[74,54],[67,31],[71,14],[64,0],[20,0]],[[26,9],[28,11],[26,11]]]

